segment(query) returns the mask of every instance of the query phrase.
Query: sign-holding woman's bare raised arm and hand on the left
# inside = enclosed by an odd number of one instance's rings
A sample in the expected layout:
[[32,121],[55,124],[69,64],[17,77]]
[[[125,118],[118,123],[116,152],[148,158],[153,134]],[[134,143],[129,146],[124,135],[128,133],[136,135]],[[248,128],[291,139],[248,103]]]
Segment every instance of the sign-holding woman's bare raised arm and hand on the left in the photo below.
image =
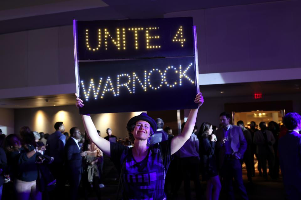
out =
[[[75,94],[77,96],[77,94]],[[80,98],[76,98],[75,103],[77,108],[82,108],[84,106],[83,101]],[[111,143],[100,137],[97,133],[94,123],[92,122],[91,116],[89,114],[82,115],[82,122],[84,123],[84,127],[88,137],[91,141],[107,156],[111,157]]]

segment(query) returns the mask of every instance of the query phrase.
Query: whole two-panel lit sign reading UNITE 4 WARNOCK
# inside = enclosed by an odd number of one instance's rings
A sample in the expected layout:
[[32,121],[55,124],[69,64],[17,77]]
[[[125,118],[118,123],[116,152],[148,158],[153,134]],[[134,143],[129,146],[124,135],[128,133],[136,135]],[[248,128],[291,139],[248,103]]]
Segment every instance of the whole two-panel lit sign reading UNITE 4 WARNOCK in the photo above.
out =
[[74,21],[80,113],[196,108],[192,17]]

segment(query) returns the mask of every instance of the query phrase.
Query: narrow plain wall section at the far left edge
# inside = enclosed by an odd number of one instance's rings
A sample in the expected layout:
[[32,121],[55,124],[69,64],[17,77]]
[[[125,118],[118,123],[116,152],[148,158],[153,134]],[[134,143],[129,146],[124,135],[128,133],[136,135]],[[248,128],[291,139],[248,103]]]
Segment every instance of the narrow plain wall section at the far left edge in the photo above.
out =
[[0,108],[0,129],[6,135],[14,132],[13,115],[13,109]]

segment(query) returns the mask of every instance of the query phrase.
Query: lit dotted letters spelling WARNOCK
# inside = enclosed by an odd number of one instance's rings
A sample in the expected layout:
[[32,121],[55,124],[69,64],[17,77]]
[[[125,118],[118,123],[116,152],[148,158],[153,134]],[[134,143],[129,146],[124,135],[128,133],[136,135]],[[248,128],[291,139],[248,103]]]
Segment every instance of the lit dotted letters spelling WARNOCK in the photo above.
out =
[[[190,67],[193,65],[193,63],[188,64],[186,68],[182,68],[182,65],[179,65],[178,68],[174,66],[167,66],[166,68],[163,69],[158,69],[158,68],[153,68],[150,71],[144,71],[144,80],[140,79],[137,75],[137,73],[133,72],[131,74],[128,73],[119,73],[117,74],[116,77],[116,84],[113,84],[112,81],[114,81],[113,78],[108,77],[106,79],[105,84],[102,86],[102,80],[103,78],[99,78],[98,86],[94,84],[94,79],[90,79],[89,85],[86,87],[84,81],[81,81],[82,85],[82,92],[84,94],[85,100],[88,101],[90,97],[90,93],[93,92],[93,98],[98,99],[99,97],[101,99],[104,98],[106,93],[112,93],[114,97],[119,96],[120,94],[120,88],[125,87],[129,94],[135,93],[136,88],[136,83],[137,85],[141,87],[144,92],[147,92],[147,89],[151,90],[159,90],[162,87],[167,87],[167,88],[174,88],[174,87],[181,87],[183,85],[183,79],[187,79],[191,84],[194,84],[194,78],[190,78],[187,75],[187,71],[190,69]],[[168,76],[167,76],[167,71],[171,70],[178,76],[178,81],[173,81],[172,83],[168,82]],[[157,73],[160,76],[160,83],[158,85],[153,85],[152,84],[152,78],[151,76]],[[120,79],[126,78],[125,81],[121,82]],[[116,91],[115,87],[116,86]],[[132,87],[131,87],[132,86]],[[139,89],[139,87],[138,87]],[[100,92],[102,91],[102,92]]]

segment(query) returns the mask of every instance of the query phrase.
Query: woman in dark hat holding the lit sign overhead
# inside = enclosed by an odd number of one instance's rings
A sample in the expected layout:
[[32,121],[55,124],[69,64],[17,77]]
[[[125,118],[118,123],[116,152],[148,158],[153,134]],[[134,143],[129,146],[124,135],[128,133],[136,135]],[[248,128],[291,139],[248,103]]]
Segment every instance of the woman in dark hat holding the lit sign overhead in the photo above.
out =
[[[198,108],[203,104],[202,93],[196,95],[194,102],[198,104]],[[76,98],[76,106],[82,108],[83,101]],[[127,129],[129,137],[134,142],[133,148],[101,138],[91,117],[88,114],[82,115],[89,138],[103,153],[111,157],[116,168],[121,172],[119,181],[123,186],[124,199],[166,199],[164,181],[168,166],[172,155],[190,138],[198,108],[191,109],[180,135],[151,146],[147,143],[157,129],[155,120],[146,113],[131,118]]]

